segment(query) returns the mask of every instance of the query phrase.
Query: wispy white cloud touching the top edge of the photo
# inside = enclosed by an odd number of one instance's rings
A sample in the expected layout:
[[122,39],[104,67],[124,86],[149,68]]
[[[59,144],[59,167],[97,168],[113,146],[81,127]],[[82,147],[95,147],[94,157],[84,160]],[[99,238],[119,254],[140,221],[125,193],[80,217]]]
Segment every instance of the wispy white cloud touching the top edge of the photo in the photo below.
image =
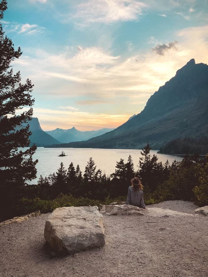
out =
[[74,18],[86,22],[116,22],[137,20],[146,4],[137,0],[88,0],[76,7]]

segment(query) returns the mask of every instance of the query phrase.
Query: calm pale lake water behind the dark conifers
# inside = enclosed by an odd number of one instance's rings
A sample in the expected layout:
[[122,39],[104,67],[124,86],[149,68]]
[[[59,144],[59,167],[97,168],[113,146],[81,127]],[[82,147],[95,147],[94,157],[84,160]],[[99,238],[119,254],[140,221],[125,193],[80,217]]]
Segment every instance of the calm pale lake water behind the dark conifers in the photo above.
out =
[[[58,157],[61,152],[64,151],[66,157]],[[50,173],[56,172],[60,167],[60,163],[63,162],[65,169],[68,168],[72,162],[76,168],[79,164],[82,173],[85,170],[85,166],[90,157],[93,158],[97,168],[102,170],[102,173],[110,175],[115,171],[116,162],[120,158],[127,162],[129,155],[131,155],[134,168],[137,170],[139,157],[141,157],[141,150],[139,149],[93,149],[93,148],[43,148],[38,147],[36,153],[33,155],[33,160],[38,159],[37,163],[37,178],[30,182],[36,184],[40,175],[43,177],[48,176]],[[151,155],[156,154],[158,161],[165,163],[168,159],[171,164],[174,160],[181,161],[182,158],[178,156],[157,154],[157,150],[151,150]]]

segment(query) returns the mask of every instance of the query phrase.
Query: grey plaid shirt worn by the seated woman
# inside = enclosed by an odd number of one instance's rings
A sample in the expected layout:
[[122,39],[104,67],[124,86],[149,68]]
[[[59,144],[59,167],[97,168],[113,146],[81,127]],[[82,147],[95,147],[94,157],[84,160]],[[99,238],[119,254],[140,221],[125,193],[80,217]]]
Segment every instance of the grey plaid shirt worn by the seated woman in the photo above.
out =
[[145,203],[143,198],[143,190],[139,189],[136,191],[131,186],[129,186],[126,204],[137,206],[144,209]]

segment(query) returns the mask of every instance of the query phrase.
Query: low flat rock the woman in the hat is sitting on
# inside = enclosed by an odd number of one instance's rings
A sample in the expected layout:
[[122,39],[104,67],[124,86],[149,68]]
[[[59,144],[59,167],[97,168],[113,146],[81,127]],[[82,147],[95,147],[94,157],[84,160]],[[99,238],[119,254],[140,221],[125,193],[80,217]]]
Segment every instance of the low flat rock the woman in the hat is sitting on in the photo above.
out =
[[[142,209],[143,210],[143,209]],[[137,214],[143,215],[141,209],[132,205],[106,205],[106,213],[107,215],[128,215],[128,214]]]

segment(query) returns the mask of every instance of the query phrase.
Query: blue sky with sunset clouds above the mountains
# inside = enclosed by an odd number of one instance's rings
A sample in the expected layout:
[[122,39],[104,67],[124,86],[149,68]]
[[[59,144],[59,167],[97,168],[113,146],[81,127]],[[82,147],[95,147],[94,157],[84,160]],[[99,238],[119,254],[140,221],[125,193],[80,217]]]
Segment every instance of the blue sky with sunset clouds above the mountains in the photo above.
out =
[[44,131],[117,128],[192,58],[208,63],[208,0],[7,0],[1,21]]

